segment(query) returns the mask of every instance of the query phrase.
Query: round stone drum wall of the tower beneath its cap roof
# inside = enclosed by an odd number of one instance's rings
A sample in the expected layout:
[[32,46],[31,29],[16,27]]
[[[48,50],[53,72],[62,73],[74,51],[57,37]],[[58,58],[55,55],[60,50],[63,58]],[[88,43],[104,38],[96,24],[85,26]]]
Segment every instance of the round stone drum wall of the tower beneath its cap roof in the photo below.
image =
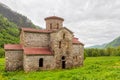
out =
[[[62,20],[55,20],[55,19],[48,19],[46,20],[46,29],[50,30],[50,26],[52,26],[52,29],[59,29],[63,26]],[[58,27],[59,26],[59,27]]]

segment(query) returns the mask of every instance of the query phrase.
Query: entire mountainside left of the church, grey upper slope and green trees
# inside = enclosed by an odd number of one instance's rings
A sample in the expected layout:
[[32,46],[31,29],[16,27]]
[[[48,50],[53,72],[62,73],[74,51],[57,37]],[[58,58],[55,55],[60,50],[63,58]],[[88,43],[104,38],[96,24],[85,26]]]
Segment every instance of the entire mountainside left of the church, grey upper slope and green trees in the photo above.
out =
[[0,57],[4,57],[4,44],[19,43],[19,28],[40,28],[27,17],[0,3]]

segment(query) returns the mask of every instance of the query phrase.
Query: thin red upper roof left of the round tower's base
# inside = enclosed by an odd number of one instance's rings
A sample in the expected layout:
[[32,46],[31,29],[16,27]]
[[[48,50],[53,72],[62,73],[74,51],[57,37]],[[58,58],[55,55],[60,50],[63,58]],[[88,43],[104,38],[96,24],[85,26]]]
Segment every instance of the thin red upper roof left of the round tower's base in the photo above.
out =
[[50,33],[50,32],[52,32],[51,30],[34,29],[34,28],[21,28],[21,30],[24,32],[38,32],[38,33]]

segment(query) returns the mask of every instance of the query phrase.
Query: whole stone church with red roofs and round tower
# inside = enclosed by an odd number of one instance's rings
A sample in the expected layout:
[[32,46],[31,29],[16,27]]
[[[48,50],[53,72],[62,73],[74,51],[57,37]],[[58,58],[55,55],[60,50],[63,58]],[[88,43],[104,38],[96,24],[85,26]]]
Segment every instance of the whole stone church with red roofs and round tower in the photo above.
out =
[[63,18],[45,18],[46,29],[21,28],[20,44],[5,44],[6,70],[39,71],[83,65],[84,44],[63,27]]

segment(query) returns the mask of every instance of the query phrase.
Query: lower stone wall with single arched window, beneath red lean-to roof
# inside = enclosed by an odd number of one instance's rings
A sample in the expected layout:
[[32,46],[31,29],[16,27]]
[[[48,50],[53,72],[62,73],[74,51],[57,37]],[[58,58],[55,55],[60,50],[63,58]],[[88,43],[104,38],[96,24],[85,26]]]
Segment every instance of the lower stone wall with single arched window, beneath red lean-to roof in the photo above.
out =
[[[39,59],[43,58],[43,67],[39,67]],[[49,55],[24,55],[24,70],[51,70],[54,69],[54,56]]]

